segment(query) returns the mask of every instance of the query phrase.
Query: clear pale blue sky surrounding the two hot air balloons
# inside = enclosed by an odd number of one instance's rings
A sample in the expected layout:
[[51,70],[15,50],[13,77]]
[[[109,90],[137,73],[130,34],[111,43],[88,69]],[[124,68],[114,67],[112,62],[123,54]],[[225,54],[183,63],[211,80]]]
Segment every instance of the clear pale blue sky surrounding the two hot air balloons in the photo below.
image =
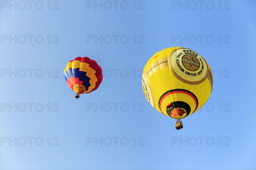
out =
[[[0,3],[1,169],[256,169],[254,0]],[[214,77],[181,130],[141,85],[172,46],[197,51]],[[83,56],[104,78],[76,99],[63,70]]]

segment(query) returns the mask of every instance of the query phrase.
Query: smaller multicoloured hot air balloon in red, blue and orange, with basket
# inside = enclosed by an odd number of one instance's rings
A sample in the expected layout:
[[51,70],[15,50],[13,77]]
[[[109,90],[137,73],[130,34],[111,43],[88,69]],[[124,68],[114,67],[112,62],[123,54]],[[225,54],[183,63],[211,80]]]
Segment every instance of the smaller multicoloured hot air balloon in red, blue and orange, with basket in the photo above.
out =
[[99,88],[102,82],[102,68],[97,62],[88,57],[76,57],[67,63],[64,69],[67,86],[79,94],[86,94]]

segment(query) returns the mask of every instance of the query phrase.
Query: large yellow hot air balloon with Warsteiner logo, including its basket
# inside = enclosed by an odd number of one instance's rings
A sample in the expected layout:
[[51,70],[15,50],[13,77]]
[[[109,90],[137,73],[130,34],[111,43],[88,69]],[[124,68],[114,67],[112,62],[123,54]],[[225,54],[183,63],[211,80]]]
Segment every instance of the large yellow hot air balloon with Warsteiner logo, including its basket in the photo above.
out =
[[177,119],[175,127],[181,129],[181,119],[198,111],[209,99],[213,77],[200,54],[189,48],[171,47],[148,60],[142,85],[148,102],[157,111]]

